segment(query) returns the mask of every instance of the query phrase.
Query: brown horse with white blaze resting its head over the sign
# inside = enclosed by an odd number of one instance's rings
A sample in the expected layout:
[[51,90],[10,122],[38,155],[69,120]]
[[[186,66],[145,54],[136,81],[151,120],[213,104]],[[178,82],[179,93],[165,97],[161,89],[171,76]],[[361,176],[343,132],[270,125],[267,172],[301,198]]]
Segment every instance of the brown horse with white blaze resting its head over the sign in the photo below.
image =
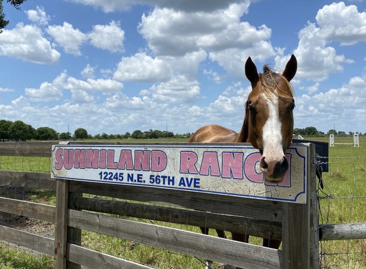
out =
[[[290,146],[294,129],[292,110],[295,102],[290,81],[296,69],[296,58],[291,55],[282,74],[273,72],[267,65],[263,67],[263,73],[258,74],[249,57],[245,63],[245,75],[251,82],[252,91],[245,104],[240,132],[219,125],[206,125],[199,128],[188,142],[250,142],[262,155],[259,167],[265,181],[281,182],[288,170],[284,152]],[[201,227],[201,231],[208,234],[208,228]],[[224,231],[217,230],[217,234],[225,238]],[[232,239],[247,243],[249,236],[232,233]],[[280,243],[278,240],[263,239],[263,246],[267,247],[278,249]],[[211,267],[211,264],[208,266]]]

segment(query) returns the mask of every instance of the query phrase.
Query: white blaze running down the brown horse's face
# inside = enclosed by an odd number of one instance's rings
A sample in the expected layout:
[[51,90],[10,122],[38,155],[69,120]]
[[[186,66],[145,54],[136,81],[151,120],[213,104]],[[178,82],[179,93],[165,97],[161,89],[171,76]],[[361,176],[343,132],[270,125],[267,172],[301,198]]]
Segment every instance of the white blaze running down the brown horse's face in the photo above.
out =
[[[281,161],[284,157],[283,143],[282,143],[282,132],[281,132],[281,121],[279,118],[279,106],[278,97],[273,95],[268,98],[262,93],[262,97],[268,104],[268,119],[263,126],[263,155],[262,159],[266,162],[267,167],[261,167],[264,176],[271,176],[273,169],[277,162]],[[278,178],[277,180],[280,180]]]

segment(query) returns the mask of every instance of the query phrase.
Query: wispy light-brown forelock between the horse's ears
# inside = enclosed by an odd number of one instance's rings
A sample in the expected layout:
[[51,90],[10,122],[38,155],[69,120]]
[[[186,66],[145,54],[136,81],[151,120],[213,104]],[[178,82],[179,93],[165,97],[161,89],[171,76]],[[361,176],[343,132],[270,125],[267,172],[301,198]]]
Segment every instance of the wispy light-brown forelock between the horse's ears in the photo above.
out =
[[263,66],[263,73],[259,73],[259,81],[262,84],[262,92],[268,98],[271,98],[273,93],[277,96],[287,96],[287,87],[290,89],[291,96],[295,95],[290,82],[282,74],[274,72],[268,65]]

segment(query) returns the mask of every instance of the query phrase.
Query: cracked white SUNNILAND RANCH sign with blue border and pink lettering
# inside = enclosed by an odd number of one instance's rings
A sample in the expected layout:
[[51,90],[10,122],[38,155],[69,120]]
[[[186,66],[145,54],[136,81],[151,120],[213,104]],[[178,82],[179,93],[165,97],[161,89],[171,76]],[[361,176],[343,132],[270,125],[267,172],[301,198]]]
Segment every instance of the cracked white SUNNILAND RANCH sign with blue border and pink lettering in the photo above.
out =
[[279,184],[264,181],[257,149],[226,145],[55,145],[52,178],[218,193],[306,203],[307,147],[285,153]]

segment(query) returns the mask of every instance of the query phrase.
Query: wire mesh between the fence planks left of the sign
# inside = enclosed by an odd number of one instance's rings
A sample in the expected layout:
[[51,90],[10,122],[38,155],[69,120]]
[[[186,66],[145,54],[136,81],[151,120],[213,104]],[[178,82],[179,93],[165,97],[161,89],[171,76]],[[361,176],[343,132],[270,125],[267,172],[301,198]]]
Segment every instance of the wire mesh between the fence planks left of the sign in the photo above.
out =
[[[0,156],[0,170],[17,172],[49,172],[50,158]],[[2,178],[6,181],[5,178]],[[0,185],[0,197],[30,201],[40,204],[55,204],[55,191],[32,189],[20,186]],[[53,238],[54,223],[1,211],[0,225],[32,234]],[[54,258],[13,243],[0,243],[0,264],[5,268],[53,268]]]

